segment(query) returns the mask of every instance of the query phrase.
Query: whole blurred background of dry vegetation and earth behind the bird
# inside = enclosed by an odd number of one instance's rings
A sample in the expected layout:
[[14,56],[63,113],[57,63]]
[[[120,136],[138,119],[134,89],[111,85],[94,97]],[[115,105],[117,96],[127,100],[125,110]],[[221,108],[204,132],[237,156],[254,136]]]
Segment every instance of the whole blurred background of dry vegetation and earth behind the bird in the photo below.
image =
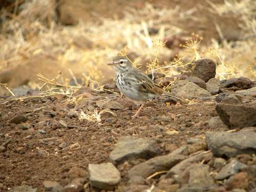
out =
[[210,58],[220,79],[256,79],[255,0],[0,0],[0,6],[0,82],[12,88],[39,88],[37,74],[51,79],[58,71],[69,84],[74,77],[80,85],[109,83],[114,72],[106,64],[121,50],[145,71],[161,68],[171,76]]

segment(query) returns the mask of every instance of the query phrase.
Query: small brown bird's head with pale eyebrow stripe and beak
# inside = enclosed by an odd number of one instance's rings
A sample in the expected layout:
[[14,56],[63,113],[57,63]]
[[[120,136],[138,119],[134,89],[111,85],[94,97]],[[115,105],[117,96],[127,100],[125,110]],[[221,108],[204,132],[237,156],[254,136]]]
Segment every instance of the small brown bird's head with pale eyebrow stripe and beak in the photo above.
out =
[[125,56],[115,57],[108,65],[113,66],[116,71],[124,71],[133,68],[132,62]]

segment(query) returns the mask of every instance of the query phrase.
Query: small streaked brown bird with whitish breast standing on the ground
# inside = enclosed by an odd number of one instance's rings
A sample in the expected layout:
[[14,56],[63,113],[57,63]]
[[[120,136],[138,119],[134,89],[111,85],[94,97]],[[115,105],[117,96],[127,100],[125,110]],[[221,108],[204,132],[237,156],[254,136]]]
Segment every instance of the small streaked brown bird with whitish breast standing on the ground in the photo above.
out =
[[119,91],[133,101],[142,102],[132,118],[139,117],[141,109],[145,106],[145,101],[154,99],[159,95],[167,95],[181,102],[185,101],[178,96],[165,92],[153,79],[135,68],[126,56],[116,56],[107,65],[113,66],[115,69],[115,83]]

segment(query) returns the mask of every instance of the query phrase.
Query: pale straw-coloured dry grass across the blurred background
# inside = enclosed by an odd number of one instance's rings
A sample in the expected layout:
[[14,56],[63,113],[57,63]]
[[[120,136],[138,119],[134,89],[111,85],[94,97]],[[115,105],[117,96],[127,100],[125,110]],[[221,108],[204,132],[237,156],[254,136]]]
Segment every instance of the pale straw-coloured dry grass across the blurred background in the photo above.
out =
[[[167,75],[178,74],[180,69],[196,59],[210,58],[218,63],[217,77],[247,76],[255,79],[256,54],[255,34],[256,2],[225,1],[223,4],[212,4],[208,9],[218,15],[233,14],[242,18],[241,30],[244,38],[237,42],[222,44],[212,41],[212,45],[204,47],[202,38],[192,35],[187,39],[179,57],[173,61],[159,63],[158,58],[168,58],[173,50],[164,46],[163,39],[179,35],[182,29],[175,27],[175,22],[201,18],[193,17],[197,8],[186,12],[175,9],[157,9],[146,3],[140,10],[124,10],[122,19],[100,18],[101,23],[79,22],[76,26],[60,26],[55,22],[56,3],[53,0],[27,0],[22,5],[19,15],[2,11],[2,18],[11,16],[12,20],[4,20],[0,42],[0,70],[17,65],[33,55],[44,54],[56,58],[61,66],[74,65],[86,68],[83,73],[85,85],[95,85],[104,75],[105,63],[108,63],[124,47],[136,53],[135,65],[141,60],[151,60],[148,71],[162,71]],[[171,19],[170,19],[171,18]],[[171,22],[175,21],[175,22]],[[172,24],[173,23],[173,24]],[[150,34],[149,29],[157,29]],[[221,31],[220,31],[221,33]],[[83,40],[83,45],[79,41]],[[164,65],[164,66],[163,66]],[[103,70],[102,70],[103,69]],[[178,70],[177,70],[178,69]],[[79,71],[79,70],[78,70]],[[72,76],[76,76],[77,71]],[[80,71],[80,73],[82,73]],[[97,84],[97,83],[96,83]]]

